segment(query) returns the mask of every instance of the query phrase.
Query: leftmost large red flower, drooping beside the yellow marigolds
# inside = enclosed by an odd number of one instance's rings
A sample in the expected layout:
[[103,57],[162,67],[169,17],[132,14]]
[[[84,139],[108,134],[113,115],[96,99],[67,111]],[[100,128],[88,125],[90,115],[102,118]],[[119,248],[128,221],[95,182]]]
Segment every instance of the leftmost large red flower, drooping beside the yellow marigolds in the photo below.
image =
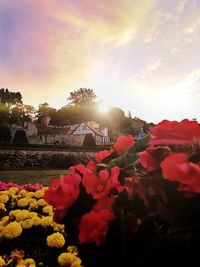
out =
[[45,191],[44,200],[53,205],[54,220],[60,222],[65,216],[67,210],[72,206],[79,196],[79,185],[81,176],[74,173],[70,176],[63,176],[61,179],[55,179]]

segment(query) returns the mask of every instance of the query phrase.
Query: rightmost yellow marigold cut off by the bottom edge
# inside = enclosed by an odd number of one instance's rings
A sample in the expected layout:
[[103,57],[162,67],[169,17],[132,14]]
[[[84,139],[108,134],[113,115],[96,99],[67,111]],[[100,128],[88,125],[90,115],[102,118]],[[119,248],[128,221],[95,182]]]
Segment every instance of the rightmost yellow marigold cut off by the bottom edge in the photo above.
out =
[[64,252],[58,257],[58,263],[61,266],[81,267],[81,259],[74,253]]

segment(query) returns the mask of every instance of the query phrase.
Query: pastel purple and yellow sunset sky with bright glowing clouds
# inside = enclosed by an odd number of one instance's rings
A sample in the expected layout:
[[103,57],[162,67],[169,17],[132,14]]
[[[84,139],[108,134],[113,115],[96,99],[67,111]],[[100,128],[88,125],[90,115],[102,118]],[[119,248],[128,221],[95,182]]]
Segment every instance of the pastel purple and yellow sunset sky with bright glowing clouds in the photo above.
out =
[[147,122],[200,121],[200,0],[0,0],[0,88],[56,108],[91,88]]

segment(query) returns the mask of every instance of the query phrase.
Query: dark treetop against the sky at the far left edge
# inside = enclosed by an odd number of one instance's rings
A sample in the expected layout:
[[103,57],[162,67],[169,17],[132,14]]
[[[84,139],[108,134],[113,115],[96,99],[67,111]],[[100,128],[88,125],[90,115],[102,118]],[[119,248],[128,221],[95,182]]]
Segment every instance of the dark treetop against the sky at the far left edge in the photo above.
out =
[[22,95],[20,92],[10,92],[8,89],[0,89],[0,104],[7,106],[22,104]]

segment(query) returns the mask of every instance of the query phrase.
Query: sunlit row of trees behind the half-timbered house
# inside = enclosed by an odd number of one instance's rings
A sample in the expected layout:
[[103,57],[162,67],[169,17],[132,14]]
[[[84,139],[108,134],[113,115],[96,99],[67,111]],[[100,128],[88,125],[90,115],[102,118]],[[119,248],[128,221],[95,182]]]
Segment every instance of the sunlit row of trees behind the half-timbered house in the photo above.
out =
[[106,114],[99,112],[99,102],[93,89],[80,88],[70,92],[66,105],[60,109],[50,107],[48,103],[39,104],[38,108],[26,105],[20,92],[0,89],[0,125],[17,124],[23,126],[27,121],[40,123],[41,116],[49,116],[50,124],[63,126],[81,121],[95,121],[108,126],[111,132],[127,129],[134,121],[118,107],[112,107]]

